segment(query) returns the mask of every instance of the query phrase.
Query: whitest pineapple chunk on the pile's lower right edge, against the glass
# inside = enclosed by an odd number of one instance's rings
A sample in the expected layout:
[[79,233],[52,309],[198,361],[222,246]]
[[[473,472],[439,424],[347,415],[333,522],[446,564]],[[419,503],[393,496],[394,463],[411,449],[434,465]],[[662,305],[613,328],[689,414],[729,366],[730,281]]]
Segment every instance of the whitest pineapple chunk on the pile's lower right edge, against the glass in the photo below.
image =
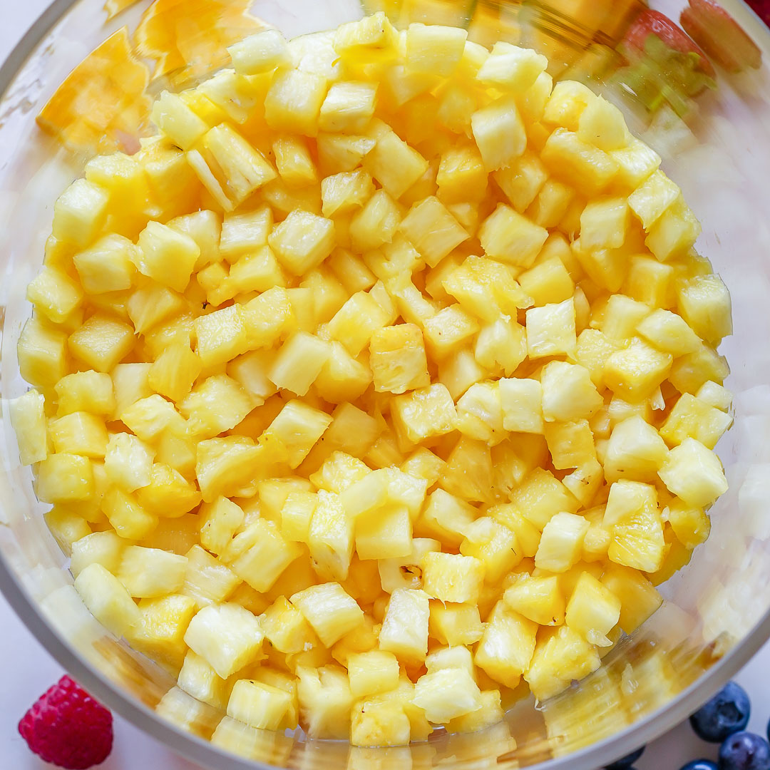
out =
[[703,507],[728,489],[719,458],[694,438],[685,438],[669,451],[658,475],[671,494]]

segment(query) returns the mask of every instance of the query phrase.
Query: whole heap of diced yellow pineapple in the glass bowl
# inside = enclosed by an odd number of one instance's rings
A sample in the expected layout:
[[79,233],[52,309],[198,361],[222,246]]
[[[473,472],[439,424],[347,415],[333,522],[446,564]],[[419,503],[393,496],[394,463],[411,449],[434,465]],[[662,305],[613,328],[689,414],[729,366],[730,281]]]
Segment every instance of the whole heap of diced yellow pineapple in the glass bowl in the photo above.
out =
[[484,728],[708,536],[728,290],[534,51],[377,14],[230,52],[55,204],[22,461],[85,605],[190,695],[355,745]]

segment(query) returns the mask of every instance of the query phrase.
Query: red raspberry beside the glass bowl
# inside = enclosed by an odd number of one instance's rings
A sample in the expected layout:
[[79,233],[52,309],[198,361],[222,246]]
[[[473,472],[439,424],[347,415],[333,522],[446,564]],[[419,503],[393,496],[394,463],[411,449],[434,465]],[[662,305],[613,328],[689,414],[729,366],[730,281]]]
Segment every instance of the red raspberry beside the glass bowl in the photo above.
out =
[[69,676],[35,701],[18,731],[45,762],[67,770],[99,765],[112,751],[112,714]]

